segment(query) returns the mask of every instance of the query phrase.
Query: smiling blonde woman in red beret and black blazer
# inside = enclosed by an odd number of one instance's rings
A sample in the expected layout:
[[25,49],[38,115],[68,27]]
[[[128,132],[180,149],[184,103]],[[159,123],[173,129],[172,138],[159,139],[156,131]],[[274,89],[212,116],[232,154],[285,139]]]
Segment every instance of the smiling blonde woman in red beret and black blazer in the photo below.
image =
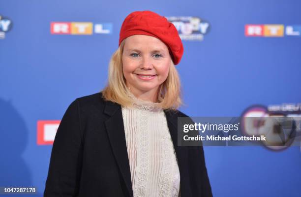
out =
[[108,85],[75,99],[57,131],[44,197],[210,197],[202,147],[177,145],[183,46],[151,11],[129,14]]

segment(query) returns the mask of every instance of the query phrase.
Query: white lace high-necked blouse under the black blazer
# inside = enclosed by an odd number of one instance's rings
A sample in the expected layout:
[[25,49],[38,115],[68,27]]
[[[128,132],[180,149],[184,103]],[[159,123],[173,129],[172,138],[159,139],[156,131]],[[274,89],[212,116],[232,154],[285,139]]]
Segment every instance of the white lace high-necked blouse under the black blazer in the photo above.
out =
[[127,94],[135,101],[122,106],[134,197],[179,197],[180,171],[164,111]]

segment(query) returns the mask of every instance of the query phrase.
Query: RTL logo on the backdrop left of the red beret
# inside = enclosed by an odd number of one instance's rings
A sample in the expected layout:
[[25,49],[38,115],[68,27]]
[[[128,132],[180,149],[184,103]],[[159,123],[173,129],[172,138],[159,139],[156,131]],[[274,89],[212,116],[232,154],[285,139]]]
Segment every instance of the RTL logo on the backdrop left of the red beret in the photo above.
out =
[[[94,30],[93,30],[94,27]],[[91,22],[51,22],[51,34],[92,35],[93,33],[112,33],[112,23]]]

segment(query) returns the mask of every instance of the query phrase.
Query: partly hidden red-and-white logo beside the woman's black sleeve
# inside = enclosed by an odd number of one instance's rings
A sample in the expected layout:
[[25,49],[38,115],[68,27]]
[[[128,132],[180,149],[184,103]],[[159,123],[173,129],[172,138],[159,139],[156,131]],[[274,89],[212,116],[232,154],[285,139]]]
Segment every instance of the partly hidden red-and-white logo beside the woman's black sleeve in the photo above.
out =
[[60,120],[39,120],[37,122],[37,144],[53,144],[59,125]]

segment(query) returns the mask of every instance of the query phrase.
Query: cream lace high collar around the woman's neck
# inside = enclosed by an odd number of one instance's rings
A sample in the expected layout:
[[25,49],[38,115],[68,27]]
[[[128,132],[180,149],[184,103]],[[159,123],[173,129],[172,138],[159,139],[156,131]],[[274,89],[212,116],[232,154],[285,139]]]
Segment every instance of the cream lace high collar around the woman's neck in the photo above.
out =
[[126,89],[126,94],[133,100],[133,107],[144,111],[161,111],[162,108],[158,102],[151,102],[136,98],[133,93]]

